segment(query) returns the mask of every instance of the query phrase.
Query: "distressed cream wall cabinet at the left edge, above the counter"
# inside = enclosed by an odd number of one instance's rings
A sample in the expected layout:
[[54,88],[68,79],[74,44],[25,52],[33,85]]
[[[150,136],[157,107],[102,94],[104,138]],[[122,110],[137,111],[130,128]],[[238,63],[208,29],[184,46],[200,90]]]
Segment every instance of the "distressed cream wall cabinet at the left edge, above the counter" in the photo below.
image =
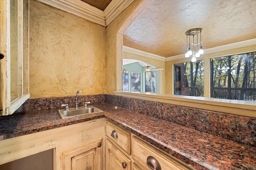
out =
[[0,0],[0,115],[29,97],[29,0]]

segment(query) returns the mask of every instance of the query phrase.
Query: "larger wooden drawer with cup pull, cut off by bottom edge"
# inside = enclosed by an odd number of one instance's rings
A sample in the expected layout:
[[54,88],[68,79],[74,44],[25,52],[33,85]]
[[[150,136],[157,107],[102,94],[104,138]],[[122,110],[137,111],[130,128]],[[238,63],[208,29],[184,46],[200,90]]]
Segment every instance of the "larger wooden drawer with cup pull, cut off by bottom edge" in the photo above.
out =
[[[150,145],[137,137],[132,138],[132,158],[145,170],[153,169],[147,165],[147,159],[148,164],[155,167],[158,166],[162,170],[194,170],[194,168],[188,166],[184,162],[166,155],[153,145]],[[159,165],[156,165],[157,163]]]

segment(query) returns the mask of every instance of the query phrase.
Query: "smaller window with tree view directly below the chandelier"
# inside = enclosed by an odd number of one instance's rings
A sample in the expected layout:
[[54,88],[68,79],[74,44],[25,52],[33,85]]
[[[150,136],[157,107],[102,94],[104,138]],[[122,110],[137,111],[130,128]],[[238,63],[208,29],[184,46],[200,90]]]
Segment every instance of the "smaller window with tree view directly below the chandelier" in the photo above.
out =
[[174,64],[174,94],[204,96],[204,61]]

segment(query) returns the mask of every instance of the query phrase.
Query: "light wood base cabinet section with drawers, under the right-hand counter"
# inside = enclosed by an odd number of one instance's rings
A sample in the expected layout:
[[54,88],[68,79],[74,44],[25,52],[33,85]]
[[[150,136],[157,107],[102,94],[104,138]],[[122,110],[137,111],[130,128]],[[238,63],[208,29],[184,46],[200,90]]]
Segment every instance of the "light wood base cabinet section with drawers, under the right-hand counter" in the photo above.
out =
[[124,163],[128,170],[194,170],[177,158],[106,121],[106,170],[123,170]]

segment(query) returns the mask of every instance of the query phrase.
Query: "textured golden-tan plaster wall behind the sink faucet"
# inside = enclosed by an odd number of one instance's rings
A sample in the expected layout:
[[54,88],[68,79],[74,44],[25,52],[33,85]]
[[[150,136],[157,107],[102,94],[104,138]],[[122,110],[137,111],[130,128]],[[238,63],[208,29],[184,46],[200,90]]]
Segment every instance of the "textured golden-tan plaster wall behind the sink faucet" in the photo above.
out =
[[30,0],[31,98],[104,94],[105,29]]

